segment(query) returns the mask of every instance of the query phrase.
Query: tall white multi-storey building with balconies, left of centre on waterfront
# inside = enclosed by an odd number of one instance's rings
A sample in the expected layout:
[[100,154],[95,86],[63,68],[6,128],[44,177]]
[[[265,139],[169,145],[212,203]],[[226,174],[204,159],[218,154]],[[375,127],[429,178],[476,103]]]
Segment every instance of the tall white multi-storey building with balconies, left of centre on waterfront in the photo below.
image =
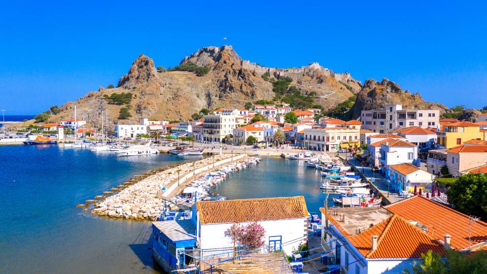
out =
[[223,110],[218,114],[203,116],[203,141],[224,143],[226,136],[233,133],[236,127],[236,117],[233,110]]

